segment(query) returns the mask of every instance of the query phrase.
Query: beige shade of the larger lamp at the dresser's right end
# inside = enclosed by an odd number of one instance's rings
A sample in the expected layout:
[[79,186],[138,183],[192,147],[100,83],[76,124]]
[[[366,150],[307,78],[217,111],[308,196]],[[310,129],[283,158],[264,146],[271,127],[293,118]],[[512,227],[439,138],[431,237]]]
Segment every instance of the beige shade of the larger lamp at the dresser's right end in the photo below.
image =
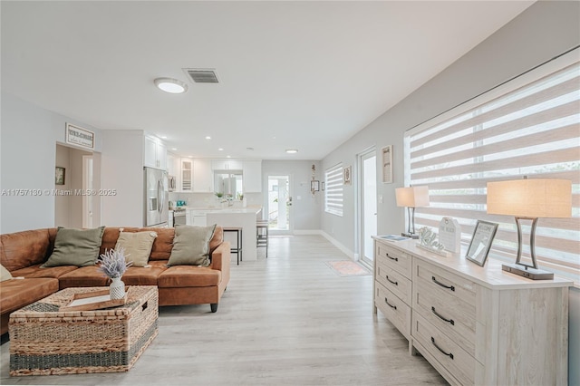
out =
[[516,179],[488,182],[488,213],[515,217],[570,217],[572,181]]

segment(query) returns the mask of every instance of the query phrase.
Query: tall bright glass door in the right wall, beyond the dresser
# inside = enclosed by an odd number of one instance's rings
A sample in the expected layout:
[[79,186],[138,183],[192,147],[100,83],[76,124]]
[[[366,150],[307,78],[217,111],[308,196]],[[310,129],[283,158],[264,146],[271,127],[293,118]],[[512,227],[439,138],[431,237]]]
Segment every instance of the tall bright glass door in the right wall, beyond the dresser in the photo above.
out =
[[374,248],[371,236],[377,234],[377,159],[374,148],[359,155],[361,170],[359,195],[360,256],[362,263],[372,266]]

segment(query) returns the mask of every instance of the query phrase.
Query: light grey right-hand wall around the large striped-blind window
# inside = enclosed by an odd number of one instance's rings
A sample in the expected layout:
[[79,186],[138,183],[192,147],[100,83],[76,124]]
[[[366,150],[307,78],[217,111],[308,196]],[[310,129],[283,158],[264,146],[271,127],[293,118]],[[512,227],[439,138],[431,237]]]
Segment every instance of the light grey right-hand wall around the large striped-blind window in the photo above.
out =
[[[393,145],[393,183],[378,185],[377,194],[383,198],[383,203],[378,204],[378,232],[400,233],[404,229],[404,209],[396,207],[394,189],[403,186],[405,130],[507,82],[578,44],[580,3],[537,2],[333,150],[323,159],[323,169],[339,161],[344,166],[354,165],[356,154],[372,145],[376,145],[377,150]],[[353,168],[353,173],[355,170]],[[357,179],[356,175],[353,175],[353,179]],[[336,217],[322,210],[321,224],[324,232],[342,240],[344,246],[354,250],[355,198],[352,191],[352,187],[345,187],[344,207],[352,211],[345,210],[343,217]],[[577,369],[577,363],[580,362],[579,293],[575,289],[570,292],[569,384],[580,384]]]

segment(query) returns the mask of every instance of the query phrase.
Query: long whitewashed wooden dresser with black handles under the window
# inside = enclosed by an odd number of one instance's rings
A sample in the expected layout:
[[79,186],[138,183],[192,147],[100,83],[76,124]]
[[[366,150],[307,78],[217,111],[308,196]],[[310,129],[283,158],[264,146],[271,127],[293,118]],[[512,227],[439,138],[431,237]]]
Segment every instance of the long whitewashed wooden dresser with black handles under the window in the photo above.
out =
[[568,287],[374,239],[377,309],[450,384],[566,385]]

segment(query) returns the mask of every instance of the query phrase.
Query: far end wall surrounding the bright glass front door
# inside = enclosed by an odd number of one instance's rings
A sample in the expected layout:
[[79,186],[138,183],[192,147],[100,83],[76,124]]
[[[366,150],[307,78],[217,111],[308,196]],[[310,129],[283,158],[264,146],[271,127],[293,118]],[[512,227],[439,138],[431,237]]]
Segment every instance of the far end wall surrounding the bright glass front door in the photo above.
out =
[[269,175],[289,175],[290,194],[292,195],[292,217],[295,231],[320,229],[320,208],[324,203],[324,192],[310,192],[312,166],[316,168],[315,179],[324,180],[324,171],[320,161],[313,160],[263,160],[262,161],[262,206],[267,207],[267,189]]

